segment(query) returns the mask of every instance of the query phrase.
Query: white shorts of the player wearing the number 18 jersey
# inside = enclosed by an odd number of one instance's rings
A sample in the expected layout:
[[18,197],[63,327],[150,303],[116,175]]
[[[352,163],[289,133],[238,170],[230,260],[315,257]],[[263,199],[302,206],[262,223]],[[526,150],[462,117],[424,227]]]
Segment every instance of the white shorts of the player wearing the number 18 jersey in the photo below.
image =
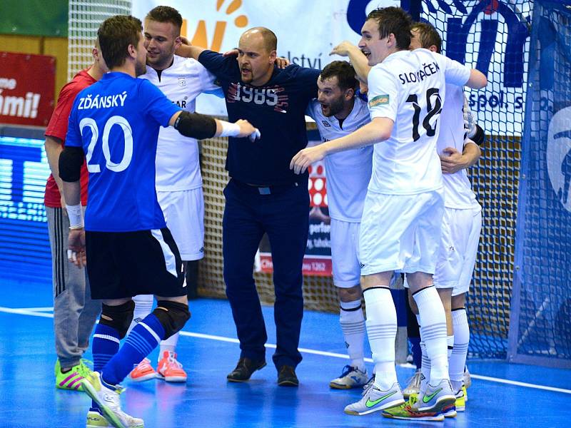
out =
[[359,239],[361,275],[434,273],[443,211],[442,190],[418,195],[367,192]]

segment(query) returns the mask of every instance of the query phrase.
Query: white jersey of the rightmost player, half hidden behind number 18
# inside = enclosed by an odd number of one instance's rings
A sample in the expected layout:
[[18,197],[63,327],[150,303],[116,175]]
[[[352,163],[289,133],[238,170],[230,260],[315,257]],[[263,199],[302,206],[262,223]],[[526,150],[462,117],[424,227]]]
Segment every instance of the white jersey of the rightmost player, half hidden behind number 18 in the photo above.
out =
[[[446,98],[440,114],[440,136],[436,147],[443,154],[447,147],[453,147],[460,153],[464,150],[464,89],[460,86],[446,85]],[[465,169],[453,174],[443,174],[444,206],[446,208],[480,208],[476,195]]]

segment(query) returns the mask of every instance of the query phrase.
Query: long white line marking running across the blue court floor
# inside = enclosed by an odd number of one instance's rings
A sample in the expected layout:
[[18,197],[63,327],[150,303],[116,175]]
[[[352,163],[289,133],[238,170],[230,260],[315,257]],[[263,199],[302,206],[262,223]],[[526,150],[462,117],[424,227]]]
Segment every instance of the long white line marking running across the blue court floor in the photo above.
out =
[[[34,312],[33,310],[30,310],[30,308],[16,308],[15,309],[12,307],[1,307],[0,306],[0,312],[6,312],[6,313],[10,313],[10,314],[17,314],[17,315],[30,315],[32,317],[44,317],[44,318],[53,318],[54,317],[54,314],[46,314],[44,312]],[[183,330],[181,330],[180,334],[181,334],[181,336],[196,337],[198,339],[218,340],[218,342],[240,343],[238,341],[238,339],[235,339],[233,337],[206,335],[204,333],[186,332]],[[276,345],[274,345],[273,343],[266,343],[266,347],[271,348],[271,349],[276,349]],[[339,354],[337,352],[312,350],[309,348],[298,348],[298,349],[300,352],[305,352],[306,354],[322,355],[324,357],[343,358],[344,360],[349,359],[348,355]],[[371,360],[370,358],[365,358],[365,362],[373,362],[373,360]],[[500,377],[483,376],[482,374],[474,374],[474,373],[470,373],[470,377],[473,377],[474,379],[487,380],[488,382],[510,384],[510,385],[514,385],[516,387],[542,389],[544,391],[562,392],[563,394],[571,394],[571,389],[548,387],[545,385],[531,384],[531,383],[527,383],[527,382],[518,382],[517,380],[502,379]]]

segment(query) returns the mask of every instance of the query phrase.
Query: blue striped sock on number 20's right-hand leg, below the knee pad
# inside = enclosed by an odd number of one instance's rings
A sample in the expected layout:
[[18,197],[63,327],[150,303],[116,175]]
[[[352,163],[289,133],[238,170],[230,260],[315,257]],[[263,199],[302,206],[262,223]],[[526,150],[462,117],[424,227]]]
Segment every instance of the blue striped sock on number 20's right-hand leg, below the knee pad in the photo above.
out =
[[165,330],[154,314],[147,315],[127,336],[125,343],[111,358],[101,377],[111,385],[120,383],[133,367],[149,355],[163,339]]

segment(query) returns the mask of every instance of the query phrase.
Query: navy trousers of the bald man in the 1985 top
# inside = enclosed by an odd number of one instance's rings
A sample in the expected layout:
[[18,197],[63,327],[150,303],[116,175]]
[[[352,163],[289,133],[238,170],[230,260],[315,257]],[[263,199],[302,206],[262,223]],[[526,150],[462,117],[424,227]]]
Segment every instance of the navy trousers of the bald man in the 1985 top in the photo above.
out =
[[303,318],[301,268],[308,240],[309,195],[307,181],[271,188],[270,194],[231,179],[224,189],[223,256],[226,295],[232,307],[241,357],[263,360],[268,340],[260,298],[253,279],[256,250],[268,234],[276,293],[274,320],[277,349],[273,362],[295,367]]

